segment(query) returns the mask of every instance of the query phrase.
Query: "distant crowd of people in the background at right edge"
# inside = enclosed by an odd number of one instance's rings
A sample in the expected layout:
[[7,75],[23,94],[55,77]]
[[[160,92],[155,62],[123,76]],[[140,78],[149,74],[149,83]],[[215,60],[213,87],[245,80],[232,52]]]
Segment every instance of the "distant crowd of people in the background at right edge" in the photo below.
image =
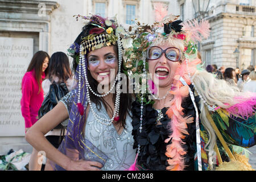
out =
[[207,72],[216,75],[217,78],[224,79],[230,85],[237,86],[241,91],[255,92],[256,90],[254,76],[256,71],[252,65],[242,71],[240,71],[240,68],[234,69],[230,67],[226,69],[225,67],[221,67],[218,69],[216,64],[207,65],[205,69]]

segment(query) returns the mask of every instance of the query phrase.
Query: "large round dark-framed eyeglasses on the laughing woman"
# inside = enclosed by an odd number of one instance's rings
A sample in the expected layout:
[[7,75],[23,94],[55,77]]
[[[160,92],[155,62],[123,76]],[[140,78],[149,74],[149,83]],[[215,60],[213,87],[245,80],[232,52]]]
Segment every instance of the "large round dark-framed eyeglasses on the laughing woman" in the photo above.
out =
[[162,55],[166,56],[166,58],[170,61],[179,61],[180,60],[180,49],[176,47],[168,47],[167,49],[163,50],[158,46],[152,46],[147,49],[147,59],[149,60],[156,60],[162,57]]

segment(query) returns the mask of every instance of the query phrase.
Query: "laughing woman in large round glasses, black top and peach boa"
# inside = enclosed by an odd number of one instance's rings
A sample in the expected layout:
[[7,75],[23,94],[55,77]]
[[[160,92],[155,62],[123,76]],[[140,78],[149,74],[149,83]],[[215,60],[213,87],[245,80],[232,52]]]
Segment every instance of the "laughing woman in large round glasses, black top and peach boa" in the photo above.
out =
[[250,170],[235,152],[255,145],[256,95],[199,66],[195,42],[207,38],[209,23],[181,24],[170,15],[137,26],[125,63],[127,72],[142,77],[132,107],[137,160],[131,169]]

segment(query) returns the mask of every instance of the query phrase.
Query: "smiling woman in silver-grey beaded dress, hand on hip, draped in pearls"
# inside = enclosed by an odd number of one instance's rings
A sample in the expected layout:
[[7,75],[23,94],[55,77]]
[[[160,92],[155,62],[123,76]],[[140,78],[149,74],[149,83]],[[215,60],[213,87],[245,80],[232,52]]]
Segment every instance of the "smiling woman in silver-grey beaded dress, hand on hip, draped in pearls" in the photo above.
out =
[[[116,19],[80,17],[89,22],[68,50],[77,84],[29,130],[26,139],[46,152],[55,170],[125,170],[135,151],[131,95],[120,91],[123,28]],[[56,150],[44,134],[68,117],[67,135]]]

